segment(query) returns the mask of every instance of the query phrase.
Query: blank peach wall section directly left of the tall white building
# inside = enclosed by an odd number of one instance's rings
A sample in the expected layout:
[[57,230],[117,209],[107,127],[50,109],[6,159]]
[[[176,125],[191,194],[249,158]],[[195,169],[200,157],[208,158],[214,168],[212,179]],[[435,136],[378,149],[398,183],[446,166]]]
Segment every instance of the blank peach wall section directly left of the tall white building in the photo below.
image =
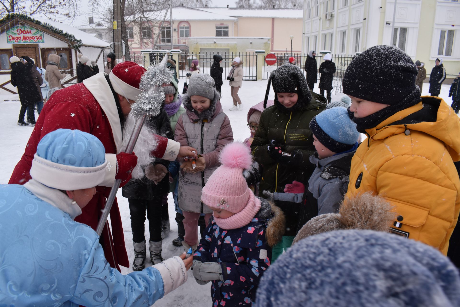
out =
[[[270,25],[271,33],[271,25]],[[273,50],[279,52],[291,51],[291,39],[293,35],[293,52],[302,50],[302,19],[275,18],[275,31],[273,35]]]

